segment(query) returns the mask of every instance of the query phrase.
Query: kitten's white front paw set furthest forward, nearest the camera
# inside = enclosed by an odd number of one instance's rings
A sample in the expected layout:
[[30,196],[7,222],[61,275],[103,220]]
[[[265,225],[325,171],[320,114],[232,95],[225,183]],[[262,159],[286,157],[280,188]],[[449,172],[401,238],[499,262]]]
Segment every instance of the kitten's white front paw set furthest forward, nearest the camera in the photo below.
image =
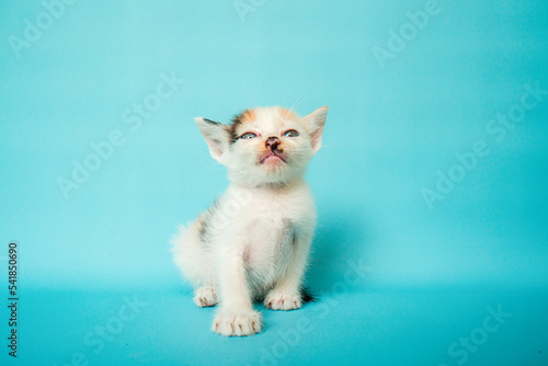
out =
[[260,333],[263,328],[261,314],[256,311],[243,313],[219,312],[213,321],[213,331],[225,336],[243,336]]

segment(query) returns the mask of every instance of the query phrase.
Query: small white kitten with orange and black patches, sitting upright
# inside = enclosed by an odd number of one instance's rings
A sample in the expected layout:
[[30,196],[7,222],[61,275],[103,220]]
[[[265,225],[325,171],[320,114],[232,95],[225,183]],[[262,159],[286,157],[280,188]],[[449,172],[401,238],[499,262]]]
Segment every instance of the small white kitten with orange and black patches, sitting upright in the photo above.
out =
[[304,175],[321,146],[328,107],[306,117],[274,107],[248,110],[231,125],[195,118],[230,185],[172,240],[174,262],[195,288],[198,307],[220,304],[213,331],[261,332],[253,310],[301,307],[301,279],[316,226]]

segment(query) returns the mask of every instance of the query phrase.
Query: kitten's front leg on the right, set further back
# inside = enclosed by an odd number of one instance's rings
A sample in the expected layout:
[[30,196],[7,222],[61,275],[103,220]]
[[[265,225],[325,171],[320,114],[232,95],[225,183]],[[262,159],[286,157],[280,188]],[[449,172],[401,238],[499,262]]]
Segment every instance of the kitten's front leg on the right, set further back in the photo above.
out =
[[300,283],[305,273],[306,262],[312,236],[296,237],[292,258],[284,276],[266,295],[264,306],[272,310],[294,310],[302,306]]

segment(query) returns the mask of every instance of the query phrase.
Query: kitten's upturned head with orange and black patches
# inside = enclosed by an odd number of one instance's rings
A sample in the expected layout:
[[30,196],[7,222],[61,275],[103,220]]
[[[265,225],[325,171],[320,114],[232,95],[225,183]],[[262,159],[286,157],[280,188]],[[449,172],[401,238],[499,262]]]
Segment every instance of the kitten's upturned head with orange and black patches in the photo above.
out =
[[328,114],[322,106],[306,117],[279,106],[247,110],[224,125],[195,118],[212,157],[246,186],[285,184],[305,174],[321,147]]

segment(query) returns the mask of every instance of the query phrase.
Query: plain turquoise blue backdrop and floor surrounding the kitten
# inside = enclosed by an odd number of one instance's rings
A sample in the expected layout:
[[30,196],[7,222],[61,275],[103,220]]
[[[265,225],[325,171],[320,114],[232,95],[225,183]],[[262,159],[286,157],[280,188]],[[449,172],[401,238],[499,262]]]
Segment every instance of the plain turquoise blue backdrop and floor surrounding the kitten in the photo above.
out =
[[[50,9],[0,12],[0,298],[10,241],[21,288],[2,364],[548,364],[547,3]],[[193,117],[260,105],[330,106],[308,173],[321,296],[222,339],[168,240],[227,184]],[[95,170],[68,188],[79,164]]]

